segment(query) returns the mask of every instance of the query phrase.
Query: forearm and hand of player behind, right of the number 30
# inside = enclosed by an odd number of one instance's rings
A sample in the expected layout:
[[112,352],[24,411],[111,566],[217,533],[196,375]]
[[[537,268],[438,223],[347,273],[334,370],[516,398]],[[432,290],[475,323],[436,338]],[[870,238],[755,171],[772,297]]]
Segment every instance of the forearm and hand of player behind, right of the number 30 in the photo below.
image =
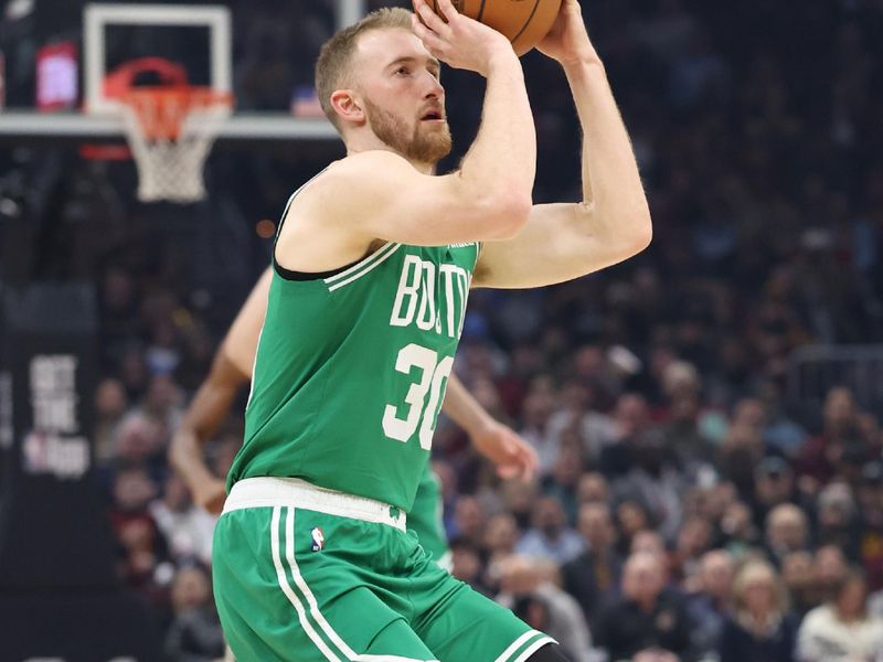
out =
[[448,378],[442,409],[469,435],[476,449],[497,465],[502,478],[530,480],[540,460],[515,431],[493,418],[455,375]]

